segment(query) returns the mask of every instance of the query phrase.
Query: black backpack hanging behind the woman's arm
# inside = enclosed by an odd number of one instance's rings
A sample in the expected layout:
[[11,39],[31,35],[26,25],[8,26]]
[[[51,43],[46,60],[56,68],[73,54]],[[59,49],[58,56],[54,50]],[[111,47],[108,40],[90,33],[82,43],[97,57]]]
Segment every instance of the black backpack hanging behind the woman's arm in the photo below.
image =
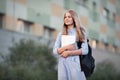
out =
[[[89,40],[87,40],[87,43]],[[78,48],[81,48],[82,42],[77,42]],[[95,68],[95,59],[92,56],[92,48],[88,43],[88,54],[87,55],[79,55],[81,71],[84,72],[86,77],[90,77]]]

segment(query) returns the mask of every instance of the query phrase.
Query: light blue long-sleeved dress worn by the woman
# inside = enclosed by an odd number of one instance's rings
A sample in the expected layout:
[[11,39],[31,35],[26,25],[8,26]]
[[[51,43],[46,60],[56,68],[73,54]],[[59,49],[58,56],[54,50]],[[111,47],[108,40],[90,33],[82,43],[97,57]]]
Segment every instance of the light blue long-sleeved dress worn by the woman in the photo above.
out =
[[[76,28],[68,30],[68,35],[76,35]],[[76,49],[78,49],[75,43]],[[58,80],[86,80],[84,72],[81,72],[79,56],[68,56],[67,58],[61,57],[57,49],[61,47],[61,33],[58,34],[55,45],[53,47],[53,53],[58,58]],[[87,40],[82,43],[82,54],[88,53]]]

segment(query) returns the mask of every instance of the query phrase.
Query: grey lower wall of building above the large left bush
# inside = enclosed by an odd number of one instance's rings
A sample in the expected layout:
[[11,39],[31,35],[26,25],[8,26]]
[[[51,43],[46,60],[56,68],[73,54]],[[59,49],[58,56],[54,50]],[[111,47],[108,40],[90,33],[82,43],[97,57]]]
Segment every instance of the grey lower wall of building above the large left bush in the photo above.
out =
[[[0,52],[3,54],[8,54],[8,48],[11,47],[14,43],[19,42],[21,39],[31,39],[43,44],[47,44],[50,41],[42,36],[34,36],[30,34],[0,29]],[[53,41],[51,41],[51,44],[52,42]]]

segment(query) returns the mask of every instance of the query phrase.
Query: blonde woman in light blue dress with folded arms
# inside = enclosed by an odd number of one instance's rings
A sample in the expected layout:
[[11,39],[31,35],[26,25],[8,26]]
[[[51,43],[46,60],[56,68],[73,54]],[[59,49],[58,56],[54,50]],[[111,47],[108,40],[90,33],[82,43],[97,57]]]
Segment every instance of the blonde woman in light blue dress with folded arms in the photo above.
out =
[[[61,46],[62,35],[74,35],[76,42],[67,46]],[[78,49],[77,41],[81,41]],[[53,53],[58,57],[58,80],[86,80],[84,72],[81,71],[79,55],[88,53],[88,44],[85,30],[80,25],[78,15],[73,10],[64,14],[63,30],[57,36]]]

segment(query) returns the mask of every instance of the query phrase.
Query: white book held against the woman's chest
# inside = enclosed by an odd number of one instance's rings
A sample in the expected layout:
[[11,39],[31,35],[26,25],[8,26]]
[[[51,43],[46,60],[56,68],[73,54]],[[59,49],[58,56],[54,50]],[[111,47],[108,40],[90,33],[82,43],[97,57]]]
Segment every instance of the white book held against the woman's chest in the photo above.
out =
[[61,43],[62,47],[75,43],[75,35],[62,35]]

